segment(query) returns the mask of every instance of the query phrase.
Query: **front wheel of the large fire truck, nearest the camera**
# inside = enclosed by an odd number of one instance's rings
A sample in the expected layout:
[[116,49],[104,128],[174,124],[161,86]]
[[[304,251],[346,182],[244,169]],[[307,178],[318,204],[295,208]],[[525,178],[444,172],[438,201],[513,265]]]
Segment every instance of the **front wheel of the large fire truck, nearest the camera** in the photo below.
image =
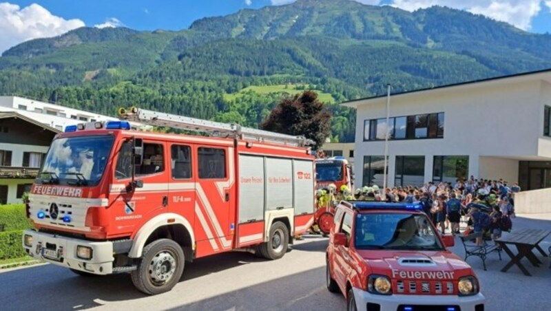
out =
[[143,248],[138,268],[132,271],[132,283],[146,294],[171,290],[184,272],[184,252],[171,239],[158,239]]

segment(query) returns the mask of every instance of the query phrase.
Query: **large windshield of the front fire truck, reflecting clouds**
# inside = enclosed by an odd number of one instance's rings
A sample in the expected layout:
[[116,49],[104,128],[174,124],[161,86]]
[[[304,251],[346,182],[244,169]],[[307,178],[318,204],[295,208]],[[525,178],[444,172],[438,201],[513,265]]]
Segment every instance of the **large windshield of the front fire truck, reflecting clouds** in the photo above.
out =
[[95,186],[103,175],[113,136],[57,138],[52,142],[38,183]]

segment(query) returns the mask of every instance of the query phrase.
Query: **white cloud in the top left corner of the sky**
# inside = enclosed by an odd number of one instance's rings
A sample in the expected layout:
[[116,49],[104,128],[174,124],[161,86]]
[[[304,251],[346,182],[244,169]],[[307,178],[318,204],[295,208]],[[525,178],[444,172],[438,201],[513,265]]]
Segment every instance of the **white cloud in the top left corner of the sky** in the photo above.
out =
[[0,53],[23,41],[58,36],[81,28],[80,19],[65,20],[52,15],[36,3],[25,8],[8,2],[0,3]]

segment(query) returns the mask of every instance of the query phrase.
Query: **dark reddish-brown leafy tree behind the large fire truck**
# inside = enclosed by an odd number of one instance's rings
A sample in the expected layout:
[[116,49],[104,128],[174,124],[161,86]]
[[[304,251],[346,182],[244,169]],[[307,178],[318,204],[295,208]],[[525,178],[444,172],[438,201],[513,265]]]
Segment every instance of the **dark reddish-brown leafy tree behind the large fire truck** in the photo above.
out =
[[331,112],[318,100],[318,94],[304,91],[283,98],[260,124],[262,129],[289,135],[302,135],[320,147],[331,135]]

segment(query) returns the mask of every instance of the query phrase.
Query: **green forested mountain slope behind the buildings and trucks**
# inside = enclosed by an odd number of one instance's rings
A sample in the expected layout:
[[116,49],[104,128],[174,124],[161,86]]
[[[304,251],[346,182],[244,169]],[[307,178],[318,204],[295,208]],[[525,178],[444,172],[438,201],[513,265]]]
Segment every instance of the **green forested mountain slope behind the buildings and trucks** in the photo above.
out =
[[346,100],[551,68],[551,35],[448,8],[406,12],[298,0],[200,19],[180,31],[79,28],[0,57],[0,94],[101,114],[137,106],[258,127],[285,96],[317,92],[333,141]]

